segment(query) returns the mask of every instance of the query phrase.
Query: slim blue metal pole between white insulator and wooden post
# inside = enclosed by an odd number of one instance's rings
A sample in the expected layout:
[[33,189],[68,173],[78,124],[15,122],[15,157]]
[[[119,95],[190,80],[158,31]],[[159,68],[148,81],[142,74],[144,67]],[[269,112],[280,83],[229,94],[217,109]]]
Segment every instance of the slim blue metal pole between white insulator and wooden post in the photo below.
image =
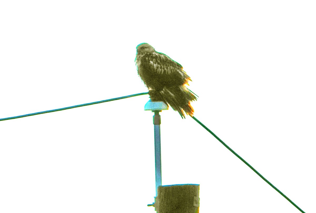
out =
[[158,195],[158,186],[161,186],[161,145],[160,145],[160,124],[161,117],[159,111],[154,111],[154,134],[155,134],[155,174],[156,174],[156,197]]

